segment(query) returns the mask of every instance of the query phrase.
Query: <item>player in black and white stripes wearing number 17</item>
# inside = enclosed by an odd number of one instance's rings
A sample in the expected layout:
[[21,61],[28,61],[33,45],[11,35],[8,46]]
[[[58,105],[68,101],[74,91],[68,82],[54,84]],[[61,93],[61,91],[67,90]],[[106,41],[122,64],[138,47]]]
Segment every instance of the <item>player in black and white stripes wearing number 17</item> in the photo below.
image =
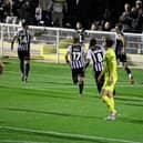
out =
[[73,38],[73,44],[69,45],[65,53],[65,62],[70,64],[73,83],[79,83],[79,96],[82,96],[84,86],[84,59],[86,51],[83,44],[79,43],[79,38]]

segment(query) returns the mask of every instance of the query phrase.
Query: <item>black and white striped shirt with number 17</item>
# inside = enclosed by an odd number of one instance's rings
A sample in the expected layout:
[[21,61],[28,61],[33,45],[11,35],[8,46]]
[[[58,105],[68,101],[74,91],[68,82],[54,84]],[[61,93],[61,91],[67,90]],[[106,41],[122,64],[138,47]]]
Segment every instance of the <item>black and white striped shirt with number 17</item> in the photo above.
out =
[[86,51],[81,44],[69,45],[68,52],[70,53],[71,59],[71,69],[80,69],[84,67],[84,58]]

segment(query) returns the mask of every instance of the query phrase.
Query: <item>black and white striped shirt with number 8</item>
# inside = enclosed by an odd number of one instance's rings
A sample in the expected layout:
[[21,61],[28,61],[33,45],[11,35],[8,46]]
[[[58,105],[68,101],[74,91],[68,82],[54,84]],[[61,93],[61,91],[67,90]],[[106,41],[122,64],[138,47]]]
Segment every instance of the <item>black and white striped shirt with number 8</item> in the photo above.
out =
[[95,45],[89,49],[86,59],[92,60],[94,71],[103,70],[103,54],[104,50],[100,45]]

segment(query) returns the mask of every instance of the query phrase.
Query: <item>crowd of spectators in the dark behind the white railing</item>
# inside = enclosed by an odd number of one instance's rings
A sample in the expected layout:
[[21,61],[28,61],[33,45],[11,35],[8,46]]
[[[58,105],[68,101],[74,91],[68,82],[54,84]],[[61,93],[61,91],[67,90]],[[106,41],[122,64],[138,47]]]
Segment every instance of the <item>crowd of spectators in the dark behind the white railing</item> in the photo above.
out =
[[[88,14],[90,7],[80,8],[80,0],[0,0],[0,22],[19,23],[25,19],[32,25],[75,28],[112,31],[115,22],[123,25],[124,32],[139,32],[143,30],[142,1],[134,1],[134,6],[125,3],[124,11],[113,21],[113,13],[104,9],[100,18]],[[86,16],[82,18],[83,10]],[[92,14],[94,14],[92,12]],[[84,22],[85,21],[85,22]]]

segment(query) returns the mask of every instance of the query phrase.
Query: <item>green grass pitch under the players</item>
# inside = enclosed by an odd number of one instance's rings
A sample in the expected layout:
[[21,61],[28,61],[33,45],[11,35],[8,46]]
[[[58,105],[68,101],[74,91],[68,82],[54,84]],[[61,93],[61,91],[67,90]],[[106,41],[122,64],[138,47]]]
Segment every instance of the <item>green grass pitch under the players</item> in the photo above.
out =
[[143,142],[143,73],[133,69],[130,85],[123,69],[116,83],[118,119],[109,122],[92,68],[85,73],[84,96],[78,96],[70,68],[32,61],[28,83],[17,60],[3,60],[0,76],[0,142],[121,143]]

